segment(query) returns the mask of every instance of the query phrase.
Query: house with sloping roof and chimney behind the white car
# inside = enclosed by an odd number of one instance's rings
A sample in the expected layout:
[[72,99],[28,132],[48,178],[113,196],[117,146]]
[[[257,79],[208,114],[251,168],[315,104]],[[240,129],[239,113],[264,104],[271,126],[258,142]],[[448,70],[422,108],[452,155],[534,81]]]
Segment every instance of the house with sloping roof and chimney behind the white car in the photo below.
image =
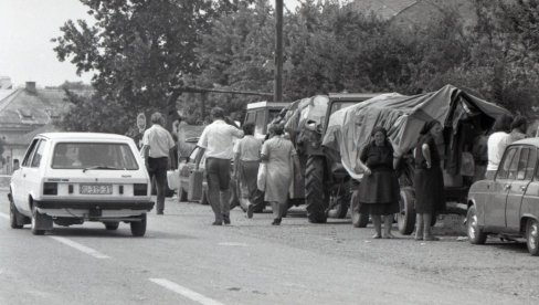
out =
[[35,82],[27,82],[22,88],[0,88],[0,140],[3,143],[0,175],[11,173],[13,160],[22,162],[35,135],[59,130],[54,123],[70,108],[65,97],[63,90],[38,88]]

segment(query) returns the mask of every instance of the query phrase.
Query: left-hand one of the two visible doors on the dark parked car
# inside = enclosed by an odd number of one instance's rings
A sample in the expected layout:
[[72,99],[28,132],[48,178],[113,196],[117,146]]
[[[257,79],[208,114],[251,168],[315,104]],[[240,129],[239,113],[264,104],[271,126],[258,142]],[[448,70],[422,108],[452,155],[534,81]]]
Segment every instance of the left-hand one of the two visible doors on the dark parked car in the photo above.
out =
[[505,230],[507,194],[517,175],[519,154],[518,146],[507,148],[494,177],[493,198],[489,202],[485,202],[485,225],[490,230]]

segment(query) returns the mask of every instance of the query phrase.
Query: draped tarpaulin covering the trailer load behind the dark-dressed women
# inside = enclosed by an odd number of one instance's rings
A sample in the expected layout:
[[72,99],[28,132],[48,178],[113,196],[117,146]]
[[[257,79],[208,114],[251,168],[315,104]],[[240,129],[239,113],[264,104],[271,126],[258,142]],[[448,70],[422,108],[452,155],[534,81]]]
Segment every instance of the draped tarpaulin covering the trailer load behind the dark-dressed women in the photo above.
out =
[[331,115],[323,145],[328,154],[340,156],[342,166],[355,179],[361,149],[371,140],[376,126],[388,129],[397,156],[415,147],[423,125],[436,119],[444,126],[455,125],[465,116],[486,115],[493,119],[508,112],[495,104],[446,85],[440,91],[413,96],[382,94]]

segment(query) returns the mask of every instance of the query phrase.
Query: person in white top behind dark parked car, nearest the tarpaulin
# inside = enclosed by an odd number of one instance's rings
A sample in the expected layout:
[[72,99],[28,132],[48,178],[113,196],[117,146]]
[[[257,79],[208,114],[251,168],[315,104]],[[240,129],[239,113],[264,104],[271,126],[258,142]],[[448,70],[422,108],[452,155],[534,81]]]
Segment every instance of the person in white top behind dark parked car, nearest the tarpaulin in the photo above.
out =
[[503,114],[496,118],[493,129],[494,133],[488,137],[488,165],[487,165],[487,179],[493,179],[496,170],[498,169],[499,161],[504,151],[509,143],[509,132],[512,123],[512,117]]

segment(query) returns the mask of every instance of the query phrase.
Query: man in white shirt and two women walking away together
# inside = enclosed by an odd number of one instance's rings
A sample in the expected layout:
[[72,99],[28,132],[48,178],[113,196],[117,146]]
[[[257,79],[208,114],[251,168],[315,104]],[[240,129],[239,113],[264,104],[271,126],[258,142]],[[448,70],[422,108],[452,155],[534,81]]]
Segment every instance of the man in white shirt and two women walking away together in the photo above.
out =
[[[274,220],[281,224],[286,212],[288,188],[293,177],[296,150],[290,140],[282,137],[284,126],[272,126],[272,138],[262,141],[254,137],[254,125],[243,125],[240,130],[233,122],[226,119],[224,112],[215,107],[210,113],[212,123],[200,136],[201,149],[195,158],[195,170],[205,154],[205,175],[208,198],[215,220],[213,225],[230,224],[230,179],[231,161],[234,160],[233,175],[236,178],[240,200],[246,207],[249,218],[253,217],[256,206],[271,202]],[[235,145],[234,145],[235,143]],[[258,173],[263,168],[263,186]]]

